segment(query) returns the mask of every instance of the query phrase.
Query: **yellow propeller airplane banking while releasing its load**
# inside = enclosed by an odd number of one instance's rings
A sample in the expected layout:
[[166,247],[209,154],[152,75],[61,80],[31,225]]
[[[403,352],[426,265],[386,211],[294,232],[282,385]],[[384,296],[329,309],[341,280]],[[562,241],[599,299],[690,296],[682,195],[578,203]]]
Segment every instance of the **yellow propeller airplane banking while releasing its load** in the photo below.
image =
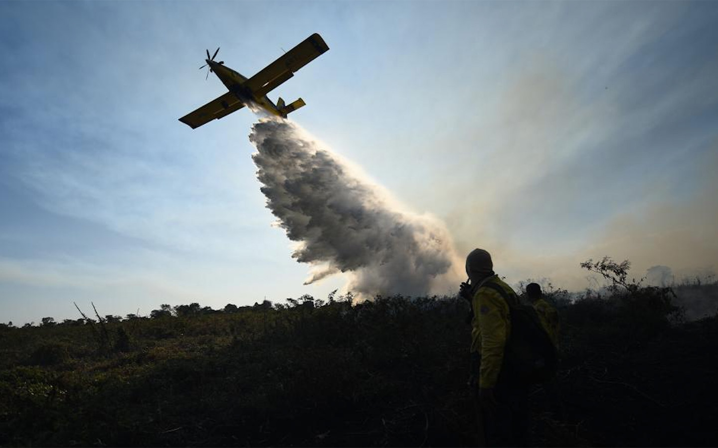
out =
[[[217,75],[229,92],[215,98],[201,108],[193,110],[180,118],[180,121],[195,129],[212,120],[223,118],[236,110],[240,110],[248,104],[257,105],[272,115],[286,118],[288,113],[306,105],[304,100],[299,98],[299,100],[292,103],[284,104],[284,100],[280,97],[274,104],[267,97],[267,93],[279,87],[284,81],[289,80],[294,76],[294,72],[312,62],[328,49],[329,47],[325,44],[324,39],[319,34],[314,33],[249,79],[225,66],[224,61],[215,61],[215,57],[220,51],[219,48],[212,57],[210,57],[210,50],[207,50],[206,64],[202,65],[200,70],[209,67],[209,72]],[[209,72],[207,72],[207,76],[210,75]]]

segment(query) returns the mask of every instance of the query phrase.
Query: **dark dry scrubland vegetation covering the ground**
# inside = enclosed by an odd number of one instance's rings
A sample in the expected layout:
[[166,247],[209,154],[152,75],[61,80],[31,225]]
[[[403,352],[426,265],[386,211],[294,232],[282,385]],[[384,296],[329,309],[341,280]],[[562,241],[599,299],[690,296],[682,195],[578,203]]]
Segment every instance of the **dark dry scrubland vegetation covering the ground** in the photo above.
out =
[[[590,267],[619,280],[609,291],[549,293],[567,412],[537,387],[533,443],[714,445],[718,318],[686,323],[671,288],[602,261]],[[350,298],[2,326],[0,445],[475,444],[465,303]]]

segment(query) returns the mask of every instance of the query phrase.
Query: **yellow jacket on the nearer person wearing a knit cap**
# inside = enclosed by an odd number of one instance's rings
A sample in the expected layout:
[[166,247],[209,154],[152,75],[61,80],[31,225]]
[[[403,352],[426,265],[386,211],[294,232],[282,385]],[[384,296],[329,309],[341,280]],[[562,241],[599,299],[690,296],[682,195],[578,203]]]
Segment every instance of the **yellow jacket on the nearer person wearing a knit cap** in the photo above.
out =
[[498,291],[483,286],[488,282],[499,285],[508,295],[516,296],[509,285],[498,275],[493,275],[479,284],[472,298],[471,351],[481,353],[479,387],[482,388],[496,385],[503,363],[503,349],[511,332],[508,303]]

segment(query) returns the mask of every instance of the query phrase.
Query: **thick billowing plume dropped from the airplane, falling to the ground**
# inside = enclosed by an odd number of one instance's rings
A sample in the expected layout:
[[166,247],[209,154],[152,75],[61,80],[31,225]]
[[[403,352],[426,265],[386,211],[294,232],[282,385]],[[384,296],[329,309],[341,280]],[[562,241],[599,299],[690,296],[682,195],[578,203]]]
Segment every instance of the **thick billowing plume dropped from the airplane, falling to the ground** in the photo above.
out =
[[312,265],[306,284],[337,272],[359,298],[448,292],[460,278],[444,224],[402,211],[298,125],[277,118],[253,125],[249,139],[266,205]]

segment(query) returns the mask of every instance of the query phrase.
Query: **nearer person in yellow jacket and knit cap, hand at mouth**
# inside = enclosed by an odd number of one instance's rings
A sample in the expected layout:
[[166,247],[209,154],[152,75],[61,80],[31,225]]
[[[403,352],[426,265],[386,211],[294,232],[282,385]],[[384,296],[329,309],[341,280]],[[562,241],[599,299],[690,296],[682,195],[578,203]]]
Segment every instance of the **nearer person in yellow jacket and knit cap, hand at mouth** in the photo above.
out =
[[[480,438],[490,447],[526,446],[528,437],[528,387],[502,375],[504,348],[511,332],[509,306],[496,288],[516,297],[493,271],[491,255],[474,249],[466,258],[470,283],[461,295],[472,305],[472,391],[480,409]],[[481,437],[483,436],[483,437]]]

